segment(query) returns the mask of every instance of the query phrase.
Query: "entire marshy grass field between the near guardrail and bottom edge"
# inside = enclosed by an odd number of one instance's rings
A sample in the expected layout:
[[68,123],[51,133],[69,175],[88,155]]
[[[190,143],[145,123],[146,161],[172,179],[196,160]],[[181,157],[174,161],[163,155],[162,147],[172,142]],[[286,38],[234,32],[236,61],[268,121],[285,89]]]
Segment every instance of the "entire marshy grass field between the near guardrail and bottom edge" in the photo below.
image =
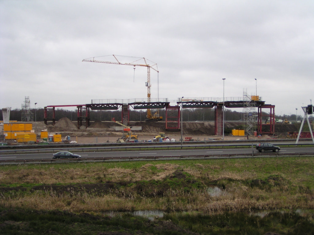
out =
[[[0,166],[0,233],[314,234],[313,169],[311,157]],[[165,214],[127,213],[145,210]]]

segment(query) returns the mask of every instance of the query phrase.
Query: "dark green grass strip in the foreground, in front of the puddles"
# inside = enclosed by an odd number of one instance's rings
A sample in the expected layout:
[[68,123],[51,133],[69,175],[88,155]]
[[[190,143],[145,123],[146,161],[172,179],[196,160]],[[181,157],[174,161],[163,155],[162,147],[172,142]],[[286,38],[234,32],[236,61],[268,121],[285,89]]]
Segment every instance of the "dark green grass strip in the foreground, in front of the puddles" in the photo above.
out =
[[62,211],[5,210],[0,208],[2,234],[98,234],[124,232],[127,234],[254,234],[266,232],[298,235],[313,234],[310,217],[296,213],[272,212],[264,217],[226,212],[217,215],[170,213],[149,221],[144,217],[122,213],[106,217],[101,214]]

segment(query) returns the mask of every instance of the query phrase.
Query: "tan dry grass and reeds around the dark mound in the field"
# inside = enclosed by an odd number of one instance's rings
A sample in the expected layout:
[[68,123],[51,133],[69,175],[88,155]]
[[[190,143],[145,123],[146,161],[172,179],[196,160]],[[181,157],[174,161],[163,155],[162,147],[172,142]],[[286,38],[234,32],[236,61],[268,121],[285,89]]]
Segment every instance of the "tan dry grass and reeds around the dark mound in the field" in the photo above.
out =
[[[220,196],[210,196],[206,189],[168,190],[162,196],[140,196],[124,188],[103,195],[82,192],[36,191],[1,193],[0,205],[43,210],[106,211],[163,210],[241,212],[273,209],[314,209],[312,158],[198,160],[155,164],[155,162],[116,164],[56,164],[44,166],[0,167],[0,182],[6,186],[34,184],[73,184],[138,182],[163,180],[177,169],[184,170],[203,184],[223,185]],[[277,180],[269,178],[279,175]],[[268,187],[247,182],[264,180]]]

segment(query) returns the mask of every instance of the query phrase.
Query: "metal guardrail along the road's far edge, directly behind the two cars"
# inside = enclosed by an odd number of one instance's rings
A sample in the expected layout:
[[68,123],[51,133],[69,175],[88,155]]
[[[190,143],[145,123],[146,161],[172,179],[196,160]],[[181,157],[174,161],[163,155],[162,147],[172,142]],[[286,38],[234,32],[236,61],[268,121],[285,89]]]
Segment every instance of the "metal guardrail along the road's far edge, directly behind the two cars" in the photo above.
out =
[[[300,144],[276,144],[278,146],[311,146],[313,145],[312,143],[300,143]],[[253,147],[255,145],[253,144]],[[75,152],[88,152],[88,151],[113,151],[113,150],[119,150],[119,151],[127,151],[127,150],[156,150],[156,149],[174,149],[174,148],[224,148],[224,147],[252,147],[251,144],[198,144],[198,145],[153,145],[153,146],[116,146],[116,147],[74,147],[74,148],[69,148],[69,147],[64,147],[64,148],[54,148],[54,149],[11,149],[11,150],[0,150],[0,155],[1,154],[8,154],[8,153],[25,153],[25,152],[59,152],[59,151],[75,151]]]

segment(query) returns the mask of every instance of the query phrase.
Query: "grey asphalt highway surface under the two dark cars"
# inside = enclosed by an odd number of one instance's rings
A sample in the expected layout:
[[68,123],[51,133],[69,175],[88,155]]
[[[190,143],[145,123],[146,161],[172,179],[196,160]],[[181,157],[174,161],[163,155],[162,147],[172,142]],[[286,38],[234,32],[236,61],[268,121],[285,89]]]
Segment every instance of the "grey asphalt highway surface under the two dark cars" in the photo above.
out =
[[[254,153],[259,153],[255,148]],[[150,151],[116,151],[116,152],[73,152],[81,155],[83,158],[99,158],[99,157],[179,157],[191,155],[226,155],[226,154],[252,154],[252,149],[195,149],[195,150],[150,150]],[[265,152],[264,154],[273,152]],[[279,153],[314,153],[314,148],[281,148]],[[0,155],[1,160],[24,160],[24,159],[51,159],[51,153],[40,154],[7,154]]]

